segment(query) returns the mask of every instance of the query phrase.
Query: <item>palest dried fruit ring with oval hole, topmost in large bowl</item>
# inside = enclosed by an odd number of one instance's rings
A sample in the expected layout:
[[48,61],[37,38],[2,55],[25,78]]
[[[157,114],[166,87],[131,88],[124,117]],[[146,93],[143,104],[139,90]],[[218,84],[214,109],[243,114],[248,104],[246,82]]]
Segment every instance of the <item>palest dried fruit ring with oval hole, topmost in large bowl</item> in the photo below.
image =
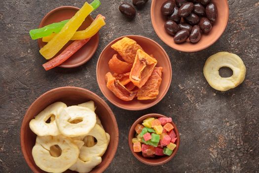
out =
[[[80,120],[77,124],[70,122]],[[56,124],[59,131],[68,137],[86,135],[96,124],[95,113],[86,107],[70,106],[57,116]]]

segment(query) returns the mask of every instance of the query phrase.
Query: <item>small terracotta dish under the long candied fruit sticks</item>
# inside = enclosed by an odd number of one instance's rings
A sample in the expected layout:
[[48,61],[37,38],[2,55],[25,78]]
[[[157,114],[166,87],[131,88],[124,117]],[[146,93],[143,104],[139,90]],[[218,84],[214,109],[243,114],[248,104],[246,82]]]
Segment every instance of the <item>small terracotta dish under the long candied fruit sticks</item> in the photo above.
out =
[[[42,28],[51,23],[56,23],[63,20],[71,19],[78,10],[79,8],[74,6],[61,6],[61,7],[55,8],[49,13],[47,13],[47,15],[45,15],[45,17],[41,20],[39,24],[39,28]],[[78,31],[86,29],[92,23],[93,20],[94,19],[90,15],[88,15],[85,21],[83,22],[83,24],[79,27]],[[73,42],[70,41],[69,43],[67,43],[57,53],[57,55],[59,55],[71,43]],[[39,48],[42,48],[46,44],[47,43],[42,42],[42,39],[38,39]],[[68,60],[62,63],[59,67],[74,68],[86,63],[94,55],[98,47],[98,44],[99,44],[99,32],[96,35],[94,35],[88,43],[86,43],[83,47],[81,47],[76,53],[74,53],[74,55],[72,55]]]

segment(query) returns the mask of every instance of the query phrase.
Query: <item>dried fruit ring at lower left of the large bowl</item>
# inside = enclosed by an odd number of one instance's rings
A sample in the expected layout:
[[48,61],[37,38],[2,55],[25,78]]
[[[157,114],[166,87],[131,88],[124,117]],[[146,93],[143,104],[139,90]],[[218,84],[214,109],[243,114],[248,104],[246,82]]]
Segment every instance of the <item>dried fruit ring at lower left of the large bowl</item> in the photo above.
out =
[[[62,152],[59,157],[50,155],[50,147],[58,145]],[[58,136],[37,136],[33,147],[33,158],[36,165],[48,173],[62,173],[76,163],[79,148],[70,138]]]

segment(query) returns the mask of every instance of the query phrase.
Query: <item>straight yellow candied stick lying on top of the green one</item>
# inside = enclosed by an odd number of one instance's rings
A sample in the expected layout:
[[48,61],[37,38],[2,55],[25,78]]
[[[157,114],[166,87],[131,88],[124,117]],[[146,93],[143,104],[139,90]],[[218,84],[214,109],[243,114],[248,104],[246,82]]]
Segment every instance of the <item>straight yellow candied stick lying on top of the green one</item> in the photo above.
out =
[[76,30],[82,25],[85,18],[93,10],[94,8],[89,3],[85,2],[82,8],[75,13],[62,30],[54,36],[49,43],[39,50],[40,54],[46,59],[50,59],[55,56],[61,48],[70,41]]

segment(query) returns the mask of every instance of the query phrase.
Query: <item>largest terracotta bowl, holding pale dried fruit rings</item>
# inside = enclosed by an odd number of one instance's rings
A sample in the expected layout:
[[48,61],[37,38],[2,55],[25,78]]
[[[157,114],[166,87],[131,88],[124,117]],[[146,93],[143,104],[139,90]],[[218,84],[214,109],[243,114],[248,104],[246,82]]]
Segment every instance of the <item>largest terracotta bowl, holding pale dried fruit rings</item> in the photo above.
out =
[[[77,105],[89,100],[93,100],[97,107],[96,114],[99,116],[102,125],[106,132],[111,135],[110,144],[106,150],[106,153],[102,157],[102,163],[96,166],[91,173],[100,173],[103,172],[111,163],[115,152],[118,146],[118,126],[116,123],[116,119],[111,111],[111,108],[107,105],[107,103],[100,98],[95,93],[79,88],[79,87],[59,87],[56,89],[52,89],[50,91],[45,92],[40,95],[33,104],[27,110],[21,127],[21,148],[25,158],[25,161],[32,169],[34,173],[45,173],[40,170],[34,162],[32,156],[32,149],[35,145],[36,134],[30,129],[29,123],[30,121],[44,108],[48,105],[56,102],[62,101],[66,103],[68,106]],[[66,171],[65,173],[76,173],[73,171]]]

